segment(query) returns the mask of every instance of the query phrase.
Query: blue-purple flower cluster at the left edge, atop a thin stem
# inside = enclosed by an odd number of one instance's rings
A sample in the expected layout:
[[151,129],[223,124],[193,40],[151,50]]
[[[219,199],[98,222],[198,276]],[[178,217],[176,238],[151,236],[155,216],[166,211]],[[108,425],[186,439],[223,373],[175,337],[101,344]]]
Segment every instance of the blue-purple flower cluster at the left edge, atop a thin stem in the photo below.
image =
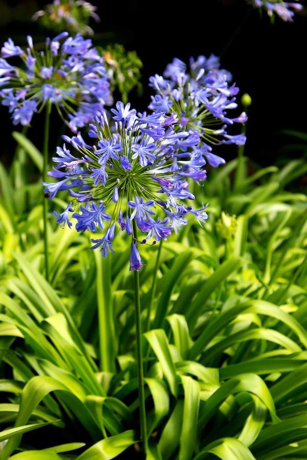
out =
[[[30,36],[27,41],[26,51],[10,38],[1,49],[0,97],[14,125],[29,125],[33,114],[51,103],[77,132],[105,104],[112,104],[103,58],[90,39],[63,32],[52,40],[47,38],[43,51],[34,50]],[[16,57],[21,66],[15,65]],[[12,63],[10,58],[14,58]]]

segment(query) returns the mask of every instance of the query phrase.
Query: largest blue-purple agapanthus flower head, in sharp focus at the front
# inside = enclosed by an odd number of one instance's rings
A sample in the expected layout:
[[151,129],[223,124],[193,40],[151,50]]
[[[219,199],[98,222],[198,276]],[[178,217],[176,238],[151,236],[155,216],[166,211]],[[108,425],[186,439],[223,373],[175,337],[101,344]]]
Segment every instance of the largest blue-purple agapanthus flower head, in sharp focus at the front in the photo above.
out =
[[117,232],[130,235],[130,269],[140,270],[138,242],[167,239],[187,224],[188,214],[201,224],[206,221],[207,205],[196,210],[190,205],[195,197],[189,179],[206,179],[210,152],[199,147],[198,133],[178,129],[174,113],[137,114],[122,102],[111,111],[111,123],[102,111],[90,124],[93,147],[80,133],[62,136],[65,143],[57,148],[56,166],[49,172],[57,181],[43,186],[50,199],[68,190],[71,202],[61,214],[54,213],[57,222],[71,226],[72,214],[77,231],[103,232],[92,240],[103,256],[114,252]]

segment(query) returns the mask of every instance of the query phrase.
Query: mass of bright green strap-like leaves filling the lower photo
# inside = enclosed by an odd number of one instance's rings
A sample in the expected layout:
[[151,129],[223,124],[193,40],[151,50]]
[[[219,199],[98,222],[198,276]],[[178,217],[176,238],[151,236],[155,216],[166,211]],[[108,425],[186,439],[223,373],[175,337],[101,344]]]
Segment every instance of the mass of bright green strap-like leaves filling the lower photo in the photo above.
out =
[[[42,158],[14,136],[12,171],[0,168],[2,458],[137,458],[129,242],[102,259],[90,234],[50,221],[47,283],[39,183],[27,181],[29,157],[38,170]],[[204,228],[142,254],[149,459],[307,456],[306,165],[247,166],[212,172]]]

